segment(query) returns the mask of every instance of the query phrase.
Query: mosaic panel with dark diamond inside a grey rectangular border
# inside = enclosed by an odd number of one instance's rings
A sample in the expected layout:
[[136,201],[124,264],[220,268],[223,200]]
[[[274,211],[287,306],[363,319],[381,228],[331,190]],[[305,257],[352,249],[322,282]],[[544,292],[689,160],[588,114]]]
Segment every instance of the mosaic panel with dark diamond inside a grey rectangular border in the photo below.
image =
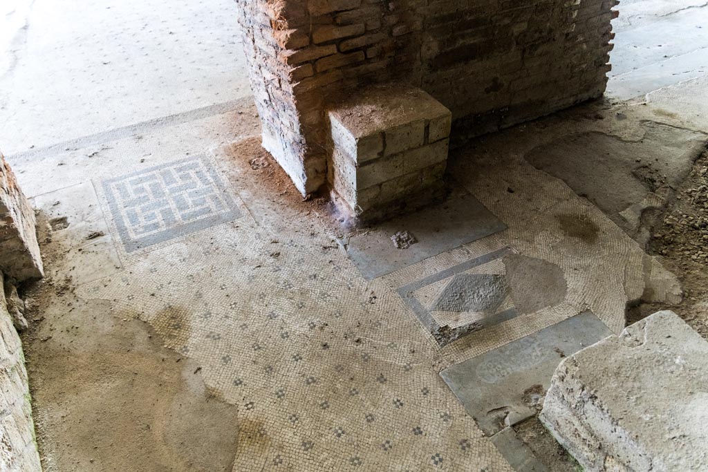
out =
[[[464,335],[518,316],[518,310],[511,305],[504,275],[469,273],[508,254],[510,251],[502,248],[467,260],[404,285],[399,288],[399,295],[438,344],[445,346]],[[426,306],[421,292],[437,294],[432,305]],[[459,316],[462,312],[467,312],[466,316]]]

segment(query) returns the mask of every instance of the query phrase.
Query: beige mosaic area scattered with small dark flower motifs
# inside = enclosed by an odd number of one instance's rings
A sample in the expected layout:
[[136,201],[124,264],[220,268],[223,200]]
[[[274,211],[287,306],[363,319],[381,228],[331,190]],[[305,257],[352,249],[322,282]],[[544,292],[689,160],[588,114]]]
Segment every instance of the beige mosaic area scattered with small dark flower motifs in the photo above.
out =
[[[244,217],[137,255],[125,244],[125,271],[79,294],[114,301],[120,316],[151,323],[169,347],[202,362],[207,384],[240,406],[234,471],[506,470],[430,369],[430,346],[404,336],[421,326],[401,316],[385,282],[321,251],[324,235],[284,239],[232,209]],[[110,221],[126,243],[120,224]]]

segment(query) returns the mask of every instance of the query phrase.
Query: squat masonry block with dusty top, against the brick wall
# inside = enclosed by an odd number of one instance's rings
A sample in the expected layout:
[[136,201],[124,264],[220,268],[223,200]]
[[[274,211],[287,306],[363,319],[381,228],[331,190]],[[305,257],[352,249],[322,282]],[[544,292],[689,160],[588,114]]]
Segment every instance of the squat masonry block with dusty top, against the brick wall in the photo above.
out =
[[449,118],[437,100],[408,86],[375,86],[336,105],[329,112],[331,187],[362,219],[413,194],[422,204],[428,188],[440,187],[448,147],[447,135],[426,144],[427,129]]

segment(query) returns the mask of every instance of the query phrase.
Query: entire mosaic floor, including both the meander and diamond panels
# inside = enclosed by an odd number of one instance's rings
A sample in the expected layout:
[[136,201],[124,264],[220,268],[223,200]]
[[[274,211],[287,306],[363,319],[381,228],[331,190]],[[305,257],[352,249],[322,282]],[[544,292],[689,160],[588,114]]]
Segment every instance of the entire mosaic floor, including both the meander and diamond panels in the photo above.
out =
[[648,283],[636,243],[513,159],[458,169],[506,229],[369,280],[326,215],[266,205],[238,149],[35,199],[105,227],[91,244],[117,260],[76,294],[149,323],[239,406],[234,471],[510,471],[439,372],[583,311],[618,331]]

